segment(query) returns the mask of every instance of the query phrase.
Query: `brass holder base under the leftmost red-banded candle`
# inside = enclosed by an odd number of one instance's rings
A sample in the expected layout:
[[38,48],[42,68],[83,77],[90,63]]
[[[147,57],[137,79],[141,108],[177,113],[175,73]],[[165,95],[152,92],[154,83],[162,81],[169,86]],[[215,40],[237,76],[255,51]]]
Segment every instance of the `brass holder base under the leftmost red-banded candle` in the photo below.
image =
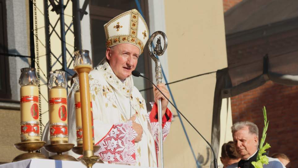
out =
[[17,162],[25,159],[47,159],[45,155],[41,153],[34,153],[33,151],[36,151],[40,148],[42,148],[45,145],[45,141],[28,141],[28,142],[20,142],[16,143],[15,147],[21,151],[25,151],[28,153],[22,153],[15,157],[12,162]]

